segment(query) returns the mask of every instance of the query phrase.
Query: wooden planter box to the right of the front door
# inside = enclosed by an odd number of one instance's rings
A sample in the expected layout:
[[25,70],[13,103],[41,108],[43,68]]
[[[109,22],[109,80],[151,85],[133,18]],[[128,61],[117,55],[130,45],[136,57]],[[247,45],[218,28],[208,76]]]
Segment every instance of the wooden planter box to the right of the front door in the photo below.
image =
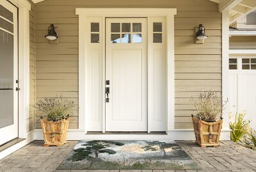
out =
[[200,147],[218,147],[223,120],[205,122],[197,117],[192,117],[196,143]]

